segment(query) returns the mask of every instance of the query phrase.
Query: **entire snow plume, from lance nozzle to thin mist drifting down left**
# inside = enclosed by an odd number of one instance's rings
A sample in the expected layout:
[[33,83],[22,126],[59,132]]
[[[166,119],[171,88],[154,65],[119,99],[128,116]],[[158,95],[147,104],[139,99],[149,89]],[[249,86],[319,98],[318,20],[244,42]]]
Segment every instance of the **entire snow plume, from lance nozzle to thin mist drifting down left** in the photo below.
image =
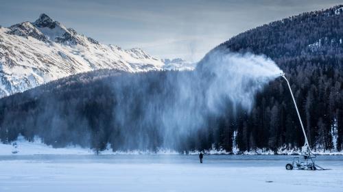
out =
[[263,55],[212,51],[193,71],[140,73],[111,82],[115,122],[125,129],[120,131],[128,145],[124,148],[160,143],[178,150],[196,131],[209,127],[211,118],[235,115],[237,109],[250,111],[257,92],[280,72]]

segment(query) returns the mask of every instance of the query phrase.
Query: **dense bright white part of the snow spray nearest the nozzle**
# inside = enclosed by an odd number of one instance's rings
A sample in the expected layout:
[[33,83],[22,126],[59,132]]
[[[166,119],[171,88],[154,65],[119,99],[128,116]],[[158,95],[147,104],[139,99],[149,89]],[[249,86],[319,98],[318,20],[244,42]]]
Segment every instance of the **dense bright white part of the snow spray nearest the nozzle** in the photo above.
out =
[[[198,70],[209,82],[206,102],[209,110],[218,112],[228,98],[233,106],[250,111],[255,94],[282,72],[272,59],[252,53],[213,51],[206,55]],[[207,77],[206,77],[207,76]]]

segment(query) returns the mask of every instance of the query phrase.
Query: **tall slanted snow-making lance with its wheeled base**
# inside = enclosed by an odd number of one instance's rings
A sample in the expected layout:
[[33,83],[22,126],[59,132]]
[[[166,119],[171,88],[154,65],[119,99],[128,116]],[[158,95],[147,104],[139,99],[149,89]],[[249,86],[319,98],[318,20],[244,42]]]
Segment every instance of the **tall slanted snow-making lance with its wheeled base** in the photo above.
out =
[[291,85],[289,85],[289,82],[288,82],[287,78],[285,77],[285,73],[281,72],[280,74],[281,74],[281,77],[283,77],[283,79],[286,80],[288,88],[289,88],[289,92],[291,92],[291,96],[292,96],[292,99],[294,102],[294,106],[296,107],[296,113],[298,114],[299,122],[300,122],[301,128],[303,129],[303,134],[305,137],[305,144],[304,144],[303,149],[302,149],[301,158],[300,157],[294,157],[292,163],[287,163],[286,169],[292,170],[294,167],[296,167],[300,170],[327,170],[327,169],[320,167],[319,165],[316,165],[316,163],[314,162],[314,158],[316,158],[316,154],[311,152],[311,148],[309,146],[309,141],[307,140],[305,128],[303,126],[303,121],[301,120],[300,113],[298,110],[298,106],[296,105],[296,100],[294,99],[294,96],[293,96]]

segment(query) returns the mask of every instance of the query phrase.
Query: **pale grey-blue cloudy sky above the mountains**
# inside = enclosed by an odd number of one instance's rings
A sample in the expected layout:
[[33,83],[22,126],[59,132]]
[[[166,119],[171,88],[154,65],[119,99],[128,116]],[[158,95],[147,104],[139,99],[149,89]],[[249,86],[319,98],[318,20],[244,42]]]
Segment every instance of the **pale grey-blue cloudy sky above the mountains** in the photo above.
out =
[[198,61],[231,37],[274,20],[343,4],[340,0],[7,1],[0,25],[34,21],[41,13],[85,36],[159,58]]

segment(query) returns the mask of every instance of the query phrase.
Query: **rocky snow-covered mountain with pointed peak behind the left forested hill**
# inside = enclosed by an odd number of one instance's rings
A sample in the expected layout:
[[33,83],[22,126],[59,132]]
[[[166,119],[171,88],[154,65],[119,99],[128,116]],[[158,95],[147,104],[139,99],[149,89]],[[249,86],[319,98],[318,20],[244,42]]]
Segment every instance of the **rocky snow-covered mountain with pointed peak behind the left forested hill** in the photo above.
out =
[[143,72],[164,66],[142,49],[101,44],[46,14],[34,23],[0,27],[0,97],[79,72],[104,68]]

